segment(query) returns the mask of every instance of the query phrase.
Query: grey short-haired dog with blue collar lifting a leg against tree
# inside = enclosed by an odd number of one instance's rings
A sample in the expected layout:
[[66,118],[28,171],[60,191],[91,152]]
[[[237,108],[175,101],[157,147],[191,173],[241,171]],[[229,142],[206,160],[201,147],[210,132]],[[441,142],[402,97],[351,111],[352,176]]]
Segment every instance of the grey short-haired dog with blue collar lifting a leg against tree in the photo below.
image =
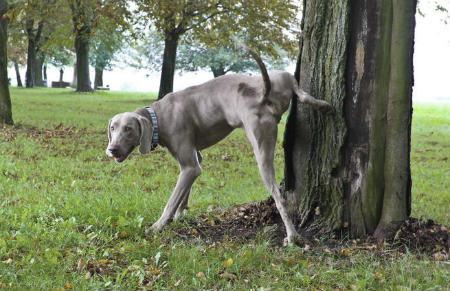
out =
[[243,46],[258,63],[262,78],[241,74],[221,76],[167,94],[151,108],[121,113],[109,121],[106,154],[116,162],[124,161],[137,146],[145,154],[158,142],[179,163],[175,189],[163,214],[149,231],[159,231],[184,214],[192,184],[202,172],[200,151],[219,142],[235,128],[241,128],[253,146],[262,180],[286,227],[285,244],[297,240],[299,235],[286,212],[275,179],[277,125],[294,96],[314,109],[328,112],[332,107],[301,90],[292,74],[275,71],[269,75],[256,52]]

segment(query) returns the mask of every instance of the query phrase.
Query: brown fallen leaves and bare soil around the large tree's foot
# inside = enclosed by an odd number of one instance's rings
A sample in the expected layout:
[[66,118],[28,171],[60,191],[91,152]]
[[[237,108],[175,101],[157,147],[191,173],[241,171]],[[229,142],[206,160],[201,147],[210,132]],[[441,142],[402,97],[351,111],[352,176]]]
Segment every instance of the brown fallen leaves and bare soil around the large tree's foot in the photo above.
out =
[[[273,246],[281,246],[285,236],[284,225],[272,197],[260,202],[237,205],[225,210],[212,209],[194,221],[186,221],[187,227],[172,229],[183,239],[202,239],[206,242],[229,240],[252,240],[257,235],[270,239]],[[194,230],[195,229],[195,230]],[[330,251],[346,255],[352,248],[367,251],[400,252],[417,251],[436,259],[450,258],[450,227],[432,220],[409,218],[396,234],[388,240],[377,240],[374,236],[348,239],[344,230],[323,235],[300,231],[305,247],[310,251]],[[348,250],[346,250],[348,249]]]

